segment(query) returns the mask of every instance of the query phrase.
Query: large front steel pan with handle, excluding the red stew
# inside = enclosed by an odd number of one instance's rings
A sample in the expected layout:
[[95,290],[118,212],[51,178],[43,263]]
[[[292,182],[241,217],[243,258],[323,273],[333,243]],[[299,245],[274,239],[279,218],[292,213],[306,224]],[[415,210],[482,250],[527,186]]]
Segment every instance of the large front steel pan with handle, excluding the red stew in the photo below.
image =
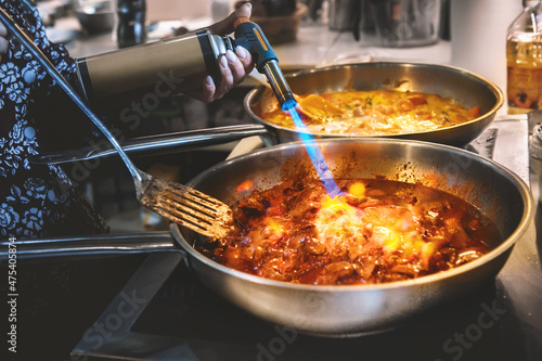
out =
[[[269,322],[310,335],[339,337],[395,328],[437,306],[467,295],[492,280],[534,216],[525,182],[496,163],[461,149],[408,140],[327,139],[318,141],[335,178],[375,178],[421,183],[472,203],[492,219],[504,241],[487,255],[456,269],[378,285],[323,286],[272,281],[219,265],[193,245],[197,234],[171,224],[168,233],[107,242],[107,235],[68,242],[20,242],[17,258],[50,255],[181,252],[186,265],[211,289]],[[256,188],[281,181],[281,171],[310,162],[302,143],[288,143],[231,158],[201,173],[188,185],[232,204],[237,185],[253,179]],[[83,242],[81,242],[83,241]],[[94,242],[92,242],[94,241]],[[91,244],[90,252],[85,245]],[[147,244],[149,243],[149,244]],[[65,244],[63,249],[59,244]],[[33,248],[34,250],[29,250]],[[87,249],[86,249],[87,248]],[[7,248],[5,248],[7,249]],[[7,254],[0,254],[7,257]]]

